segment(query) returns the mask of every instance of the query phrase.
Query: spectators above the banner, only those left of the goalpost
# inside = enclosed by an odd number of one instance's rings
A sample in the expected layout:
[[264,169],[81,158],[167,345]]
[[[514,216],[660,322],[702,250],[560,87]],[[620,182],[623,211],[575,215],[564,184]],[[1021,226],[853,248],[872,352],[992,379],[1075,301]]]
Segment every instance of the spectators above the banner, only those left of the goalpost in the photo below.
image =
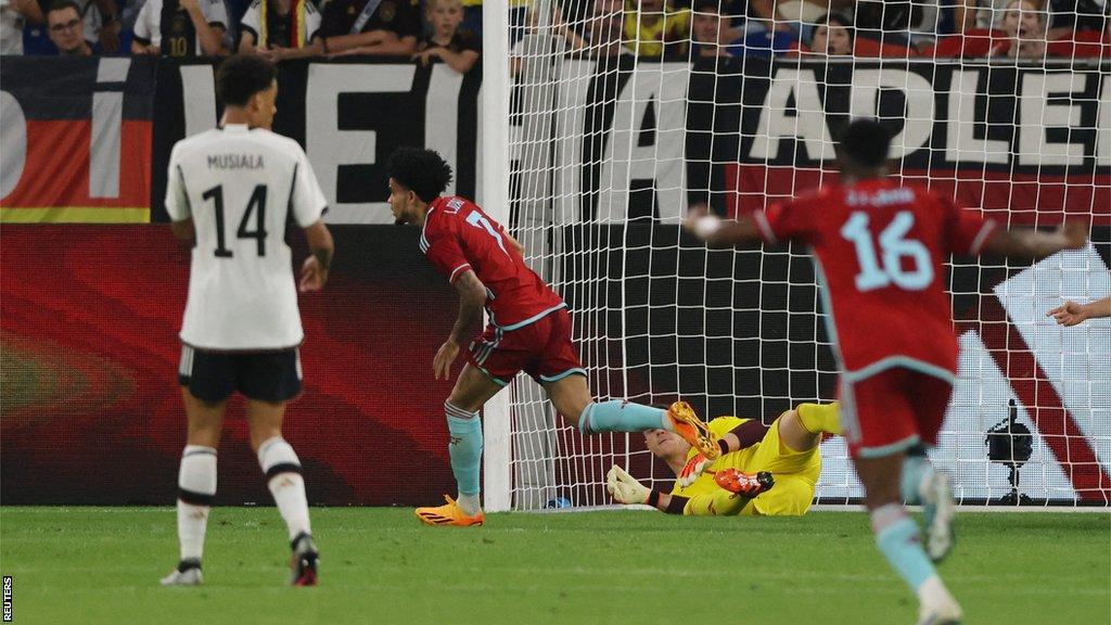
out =
[[467,72],[482,50],[479,34],[466,28],[481,24],[477,0],[247,1],[0,0],[0,53],[244,52],[274,61],[371,54],[439,59]]

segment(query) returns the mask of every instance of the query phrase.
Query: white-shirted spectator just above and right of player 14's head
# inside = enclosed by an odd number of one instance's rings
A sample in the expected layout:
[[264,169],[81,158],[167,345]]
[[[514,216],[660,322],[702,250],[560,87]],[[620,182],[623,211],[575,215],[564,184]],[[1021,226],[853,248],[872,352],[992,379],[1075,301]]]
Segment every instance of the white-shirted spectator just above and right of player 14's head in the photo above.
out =
[[[319,56],[320,12],[312,0],[254,0],[239,22],[239,52],[272,60]],[[298,53],[297,50],[301,50]]]

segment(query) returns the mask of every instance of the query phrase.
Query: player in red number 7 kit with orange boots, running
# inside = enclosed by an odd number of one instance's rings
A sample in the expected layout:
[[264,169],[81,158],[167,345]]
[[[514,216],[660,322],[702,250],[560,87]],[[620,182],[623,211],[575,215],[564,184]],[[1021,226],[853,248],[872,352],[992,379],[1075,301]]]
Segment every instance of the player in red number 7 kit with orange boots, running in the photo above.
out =
[[571,317],[563,299],[524,264],[521,244],[474,202],[440,197],[451,168],[431,150],[402,148],[390,157],[390,208],[400,224],[421,227],[424,256],[460,295],[459,318],[436,354],[437,379],[448,379],[468,333],[489,324],[463,351],[466,365],[443,405],[451,444],[457,499],[418,508],[429,525],[481,525],[479,463],[482,424],[478,410],[524,371],[548,394],[556,410],[583,433],[675,431],[708,457],[720,454],[715,437],[677,401],[668,410],[621,400],[594,401],[587,371],[571,343]]

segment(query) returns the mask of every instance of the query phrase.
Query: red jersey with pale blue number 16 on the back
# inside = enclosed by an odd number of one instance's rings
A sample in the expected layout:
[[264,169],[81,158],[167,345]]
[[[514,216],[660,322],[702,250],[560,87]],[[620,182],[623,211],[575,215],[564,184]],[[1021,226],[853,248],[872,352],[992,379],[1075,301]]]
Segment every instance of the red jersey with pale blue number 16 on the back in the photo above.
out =
[[823,187],[753,218],[765,241],[811,247],[847,377],[897,365],[955,371],[943,264],[980,254],[994,221],[893,180]]

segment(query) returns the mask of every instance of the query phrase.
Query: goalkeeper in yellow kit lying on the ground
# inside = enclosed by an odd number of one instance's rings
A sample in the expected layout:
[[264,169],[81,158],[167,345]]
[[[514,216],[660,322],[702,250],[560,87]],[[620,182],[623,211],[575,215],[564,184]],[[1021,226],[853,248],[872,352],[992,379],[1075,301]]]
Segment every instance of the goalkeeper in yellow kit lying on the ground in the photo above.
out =
[[644,433],[648,448],[675,474],[671,493],[652,490],[614,465],[605,488],[621,504],[648,504],[669,514],[802,515],[822,470],[822,434],[840,434],[838,405],[801,404],[770,427],[759,419],[710,421],[721,456],[708,459],[674,433]]

